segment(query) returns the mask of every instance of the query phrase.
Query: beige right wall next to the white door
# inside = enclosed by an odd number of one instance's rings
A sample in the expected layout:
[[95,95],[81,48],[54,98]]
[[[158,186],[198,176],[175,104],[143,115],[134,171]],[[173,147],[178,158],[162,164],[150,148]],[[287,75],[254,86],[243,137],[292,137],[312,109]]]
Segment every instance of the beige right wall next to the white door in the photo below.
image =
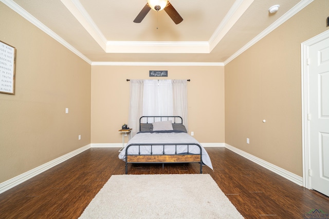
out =
[[226,143],[299,176],[300,44],[328,30],[328,12],[329,1],[314,1],[225,66]]

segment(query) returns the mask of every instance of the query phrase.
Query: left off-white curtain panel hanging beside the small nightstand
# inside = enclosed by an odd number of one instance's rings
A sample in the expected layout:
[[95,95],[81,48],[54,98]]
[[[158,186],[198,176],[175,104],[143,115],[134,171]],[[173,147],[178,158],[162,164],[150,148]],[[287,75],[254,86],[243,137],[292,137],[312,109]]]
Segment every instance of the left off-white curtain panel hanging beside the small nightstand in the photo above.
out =
[[144,80],[130,80],[130,109],[128,126],[133,130],[129,134],[132,138],[139,132],[139,118],[143,115]]

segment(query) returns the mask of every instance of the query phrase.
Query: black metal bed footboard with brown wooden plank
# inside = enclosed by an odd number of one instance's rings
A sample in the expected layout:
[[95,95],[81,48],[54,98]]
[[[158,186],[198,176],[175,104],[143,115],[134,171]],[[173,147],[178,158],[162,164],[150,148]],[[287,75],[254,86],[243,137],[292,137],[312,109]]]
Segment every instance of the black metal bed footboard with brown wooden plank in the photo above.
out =
[[[140,147],[148,146],[150,147],[150,154],[141,154]],[[161,154],[154,154],[153,147],[162,147]],[[166,154],[166,147],[175,146],[175,153]],[[186,146],[186,153],[177,153],[177,146]],[[199,153],[190,153],[189,149],[191,146],[197,146],[199,148]],[[128,150],[130,147],[138,147],[138,154],[129,154]],[[202,173],[202,147],[198,144],[130,144],[125,149],[125,174],[128,173],[128,164],[137,163],[153,163],[153,164],[168,164],[168,163],[199,163],[200,164],[200,174]]]

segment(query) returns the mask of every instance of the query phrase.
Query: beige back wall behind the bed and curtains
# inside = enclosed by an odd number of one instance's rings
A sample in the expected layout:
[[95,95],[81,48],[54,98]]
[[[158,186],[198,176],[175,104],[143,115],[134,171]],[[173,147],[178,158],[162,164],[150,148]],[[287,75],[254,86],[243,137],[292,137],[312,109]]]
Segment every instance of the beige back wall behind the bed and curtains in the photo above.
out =
[[168,70],[167,79],[191,79],[189,131],[200,143],[225,142],[223,66],[92,66],[92,143],[122,141],[118,130],[129,116],[126,79],[154,79],[149,70]]

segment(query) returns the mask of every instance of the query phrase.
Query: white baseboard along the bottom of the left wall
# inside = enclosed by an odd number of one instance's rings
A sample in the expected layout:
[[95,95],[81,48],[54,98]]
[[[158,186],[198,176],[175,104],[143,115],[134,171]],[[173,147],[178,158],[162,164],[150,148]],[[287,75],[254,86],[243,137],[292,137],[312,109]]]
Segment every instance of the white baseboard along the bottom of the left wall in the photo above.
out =
[[79,153],[81,153],[81,152],[83,152],[83,151],[85,151],[89,148],[90,148],[90,145],[86,145],[82,148],[78,148],[77,150],[74,150],[72,152],[64,154],[63,156],[60,156],[60,157],[58,157],[58,158],[56,158],[52,161],[49,161],[46,164],[43,164],[39,167],[36,167],[32,170],[29,170],[25,173],[22,173],[21,175],[15,176],[15,177],[11,178],[10,180],[7,180],[7,181],[1,183],[0,184],[0,194],[7,191],[7,190],[9,190],[9,189],[11,189],[11,188],[13,188],[13,187],[15,187],[15,186],[17,186],[17,185],[19,185],[19,184],[21,184],[21,183],[23,183],[23,182],[25,182],[25,181],[27,181],[27,180],[29,180],[30,178],[32,178],[32,177],[34,177],[34,176],[50,169],[50,168],[52,168],[52,167],[54,167],[54,166],[56,166],[56,165],[58,165],[58,164],[60,164],[64,161],[68,160],[69,158],[74,157],[75,155],[77,155],[77,154],[79,154]]

